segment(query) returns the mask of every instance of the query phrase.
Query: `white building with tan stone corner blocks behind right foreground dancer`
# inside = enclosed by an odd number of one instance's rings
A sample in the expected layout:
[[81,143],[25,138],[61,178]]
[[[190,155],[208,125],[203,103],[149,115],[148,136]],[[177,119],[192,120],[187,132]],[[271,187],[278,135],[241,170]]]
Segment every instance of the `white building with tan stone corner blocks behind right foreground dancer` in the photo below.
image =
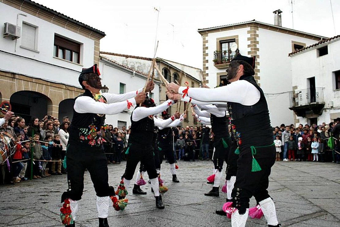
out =
[[255,20],[198,32],[203,37],[203,80],[209,87],[218,86],[222,80],[226,84],[225,70],[237,51],[256,56],[254,78],[266,95],[272,126],[296,121],[289,110],[292,75],[288,54],[326,37]]

